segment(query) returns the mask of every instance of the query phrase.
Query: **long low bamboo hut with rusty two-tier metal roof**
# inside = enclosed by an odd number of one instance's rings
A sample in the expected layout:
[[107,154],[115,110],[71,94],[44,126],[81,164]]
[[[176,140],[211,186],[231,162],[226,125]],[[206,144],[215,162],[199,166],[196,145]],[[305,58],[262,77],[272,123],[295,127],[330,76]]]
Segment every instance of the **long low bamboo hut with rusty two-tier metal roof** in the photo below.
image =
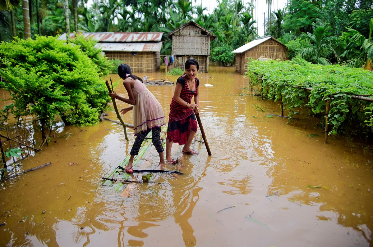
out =
[[[108,59],[119,59],[131,66],[133,73],[151,73],[160,69],[163,32],[82,33],[96,40]],[[74,38],[75,34],[70,34]],[[60,36],[66,39],[66,34]]]

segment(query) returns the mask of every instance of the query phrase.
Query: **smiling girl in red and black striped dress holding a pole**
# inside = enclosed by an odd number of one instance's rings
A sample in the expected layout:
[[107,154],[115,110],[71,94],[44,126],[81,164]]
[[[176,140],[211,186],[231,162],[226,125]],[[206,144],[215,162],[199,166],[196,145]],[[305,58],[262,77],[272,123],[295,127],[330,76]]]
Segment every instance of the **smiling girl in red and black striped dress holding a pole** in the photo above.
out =
[[[189,58],[185,62],[185,74],[176,81],[167,128],[166,160],[169,164],[176,163],[175,159],[171,157],[171,148],[174,142],[184,145],[183,153],[198,154],[198,151],[190,148],[195,132],[197,132],[197,120],[194,113],[200,113],[198,106],[200,104],[198,95],[200,80],[195,77],[198,69],[197,60]],[[191,104],[192,97],[194,104]]]

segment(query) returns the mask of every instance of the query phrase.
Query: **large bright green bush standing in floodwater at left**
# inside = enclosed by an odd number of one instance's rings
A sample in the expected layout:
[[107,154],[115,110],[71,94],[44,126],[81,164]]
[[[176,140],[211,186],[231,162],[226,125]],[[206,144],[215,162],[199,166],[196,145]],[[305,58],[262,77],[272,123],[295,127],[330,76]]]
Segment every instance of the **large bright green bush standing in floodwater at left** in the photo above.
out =
[[18,119],[32,115],[42,130],[56,115],[65,124],[97,123],[110,98],[100,69],[80,48],[46,36],[1,42],[0,86],[10,92],[12,102],[1,110],[0,121],[9,114]]

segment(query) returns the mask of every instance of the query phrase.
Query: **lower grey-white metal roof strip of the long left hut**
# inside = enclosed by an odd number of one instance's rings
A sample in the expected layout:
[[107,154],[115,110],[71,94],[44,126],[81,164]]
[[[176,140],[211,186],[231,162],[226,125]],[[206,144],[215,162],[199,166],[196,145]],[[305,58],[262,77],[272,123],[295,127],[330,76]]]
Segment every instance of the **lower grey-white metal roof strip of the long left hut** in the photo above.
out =
[[97,47],[103,51],[153,51],[160,52],[162,42],[157,43],[97,43]]

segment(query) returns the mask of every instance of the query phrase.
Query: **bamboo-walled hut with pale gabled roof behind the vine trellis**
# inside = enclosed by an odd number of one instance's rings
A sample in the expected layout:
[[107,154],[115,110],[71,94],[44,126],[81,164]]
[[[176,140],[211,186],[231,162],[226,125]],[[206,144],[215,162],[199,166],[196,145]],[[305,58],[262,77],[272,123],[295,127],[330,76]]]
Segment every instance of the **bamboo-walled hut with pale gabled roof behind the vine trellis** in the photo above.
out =
[[277,59],[288,60],[286,53],[288,48],[279,40],[272,36],[265,36],[263,38],[254,39],[253,41],[242,45],[232,53],[236,53],[236,73],[245,74],[248,59]]

